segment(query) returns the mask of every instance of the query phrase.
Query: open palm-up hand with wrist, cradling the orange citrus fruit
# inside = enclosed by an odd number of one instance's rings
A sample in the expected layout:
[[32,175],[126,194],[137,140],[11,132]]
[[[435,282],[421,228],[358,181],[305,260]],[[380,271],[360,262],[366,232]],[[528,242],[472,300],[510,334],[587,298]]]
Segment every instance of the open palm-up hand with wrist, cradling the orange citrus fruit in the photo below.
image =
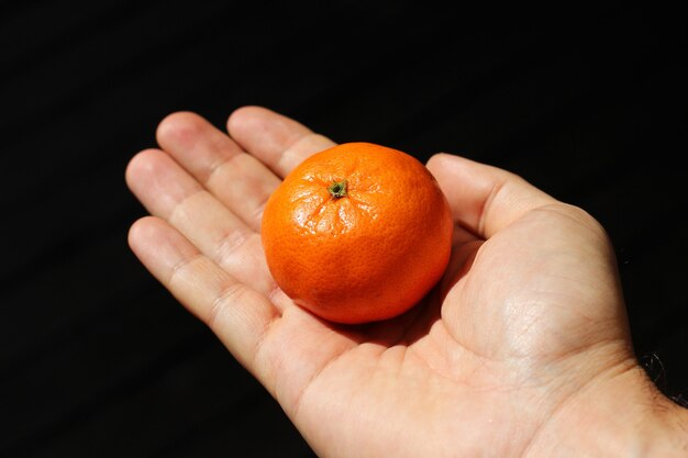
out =
[[152,213],[130,245],[319,456],[686,453],[686,411],[636,364],[613,252],[589,214],[436,155],[428,168],[456,222],[441,284],[395,320],[333,325],[275,284],[259,226],[280,179],[334,143],[258,107],[228,131],[193,113],[160,123],[160,149],[126,170]]

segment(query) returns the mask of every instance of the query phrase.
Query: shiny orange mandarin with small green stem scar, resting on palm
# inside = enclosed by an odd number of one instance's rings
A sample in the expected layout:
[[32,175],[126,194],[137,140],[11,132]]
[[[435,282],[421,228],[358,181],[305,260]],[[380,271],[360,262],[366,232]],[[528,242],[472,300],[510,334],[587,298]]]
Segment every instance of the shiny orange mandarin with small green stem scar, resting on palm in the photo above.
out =
[[345,143],[303,160],[265,206],[270,273],[298,305],[337,323],[399,315],[440,280],[452,247],[445,196],[398,149]]

